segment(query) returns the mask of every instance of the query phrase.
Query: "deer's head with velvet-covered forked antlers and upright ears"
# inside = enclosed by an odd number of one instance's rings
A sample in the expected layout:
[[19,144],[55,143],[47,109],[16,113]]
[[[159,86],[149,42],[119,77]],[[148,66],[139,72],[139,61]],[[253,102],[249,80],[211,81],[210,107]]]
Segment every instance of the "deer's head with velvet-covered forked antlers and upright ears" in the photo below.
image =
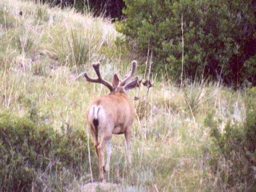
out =
[[96,63],[96,64],[93,64],[93,68],[95,70],[96,75],[98,76],[98,79],[90,78],[87,75],[87,73],[84,74],[84,77],[89,82],[100,83],[100,84],[105,85],[110,90],[110,94],[114,94],[114,93],[117,93],[117,92],[126,93],[126,91],[128,91],[128,90],[133,89],[136,86],[140,86],[141,81],[139,81],[138,77],[136,77],[134,80],[130,81],[131,78],[134,76],[135,71],[136,71],[136,67],[137,67],[137,62],[136,61],[132,62],[132,70],[130,71],[130,73],[128,75],[126,75],[124,80],[120,81],[117,74],[115,74],[114,78],[113,78],[112,85],[111,85],[110,82],[102,79],[102,77],[100,75],[99,66],[100,66],[99,62]]

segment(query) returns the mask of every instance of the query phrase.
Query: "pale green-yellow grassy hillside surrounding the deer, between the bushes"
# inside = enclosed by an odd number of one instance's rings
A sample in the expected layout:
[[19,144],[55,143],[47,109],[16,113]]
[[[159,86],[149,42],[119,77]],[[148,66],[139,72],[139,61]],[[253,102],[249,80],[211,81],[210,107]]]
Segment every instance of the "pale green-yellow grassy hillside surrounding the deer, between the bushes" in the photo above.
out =
[[[108,90],[77,77],[85,70],[94,75],[91,63],[98,60],[104,78],[111,81],[116,71],[124,77],[136,58],[115,44],[117,38],[123,37],[108,19],[27,1],[1,1],[0,113],[17,118],[36,116],[37,125],[49,125],[57,132],[80,130],[87,137],[86,108]],[[124,136],[114,136],[109,182],[120,184],[124,191],[227,187],[210,169],[212,140],[204,120],[214,111],[221,132],[227,122],[242,124],[246,117],[245,92],[218,83],[192,83],[180,89],[172,82],[159,81],[148,97],[145,88],[129,94],[132,99],[139,97],[139,101],[133,101],[137,110],[133,164],[127,164]],[[91,149],[93,178],[97,180],[98,161],[92,143],[88,143],[81,146]],[[35,177],[44,191],[76,191],[91,181],[88,155],[84,161],[87,163],[78,161],[81,169],[63,166],[55,171],[37,171]],[[36,182],[31,187],[36,188]]]

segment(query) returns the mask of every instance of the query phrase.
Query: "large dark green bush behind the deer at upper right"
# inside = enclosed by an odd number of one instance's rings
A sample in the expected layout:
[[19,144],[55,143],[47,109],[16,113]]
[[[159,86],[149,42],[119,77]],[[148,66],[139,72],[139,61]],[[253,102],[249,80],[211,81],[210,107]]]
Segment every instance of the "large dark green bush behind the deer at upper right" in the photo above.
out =
[[247,79],[255,84],[253,67],[245,66],[256,53],[255,1],[124,2],[127,19],[118,29],[145,55],[148,48],[153,51],[155,71],[165,71],[166,64],[171,77],[180,79],[183,18],[183,78],[208,76],[229,85]]

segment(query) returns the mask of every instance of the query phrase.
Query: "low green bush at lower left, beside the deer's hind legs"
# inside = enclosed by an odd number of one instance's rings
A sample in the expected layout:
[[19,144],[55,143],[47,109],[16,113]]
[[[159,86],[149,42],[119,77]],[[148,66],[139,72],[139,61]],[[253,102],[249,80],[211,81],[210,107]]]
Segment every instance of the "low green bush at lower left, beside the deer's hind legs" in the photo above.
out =
[[42,181],[37,172],[88,171],[88,141],[83,131],[70,127],[55,131],[30,118],[5,113],[0,115],[0,137],[2,191],[31,191],[32,187],[39,191]]

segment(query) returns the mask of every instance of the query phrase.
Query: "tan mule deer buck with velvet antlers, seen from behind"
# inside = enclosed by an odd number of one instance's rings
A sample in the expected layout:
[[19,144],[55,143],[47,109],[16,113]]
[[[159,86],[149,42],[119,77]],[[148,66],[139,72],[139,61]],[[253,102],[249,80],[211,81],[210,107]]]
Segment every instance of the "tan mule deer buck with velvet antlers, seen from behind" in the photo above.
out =
[[[112,134],[124,134],[126,140],[126,151],[129,163],[131,163],[130,139],[132,133],[132,124],[135,116],[135,109],[130,101],[126,91],[139,86],[138,77],[133,81],[137,62],[132,62],[132,71],[123,81],[119,82],[117,74],[114,75],[112,85],[102,79],[99,70],[100,63],[93,64],[93,68],[98,79],[90,78],[87,73],[84,77],[92,83],[101,83],[108,87],[110,94],[94,100],[87,110],[87,120],[90,126],[90,132],[93,136],[93,142],[96,154],[99,159],[99,181],[104,180],[104,172],[110,169],[110,156],[112,153],[111,137]],[[101,137],[98,140],[98,133]],[[108,145],[108,157],[104,164],[104,148]]]

